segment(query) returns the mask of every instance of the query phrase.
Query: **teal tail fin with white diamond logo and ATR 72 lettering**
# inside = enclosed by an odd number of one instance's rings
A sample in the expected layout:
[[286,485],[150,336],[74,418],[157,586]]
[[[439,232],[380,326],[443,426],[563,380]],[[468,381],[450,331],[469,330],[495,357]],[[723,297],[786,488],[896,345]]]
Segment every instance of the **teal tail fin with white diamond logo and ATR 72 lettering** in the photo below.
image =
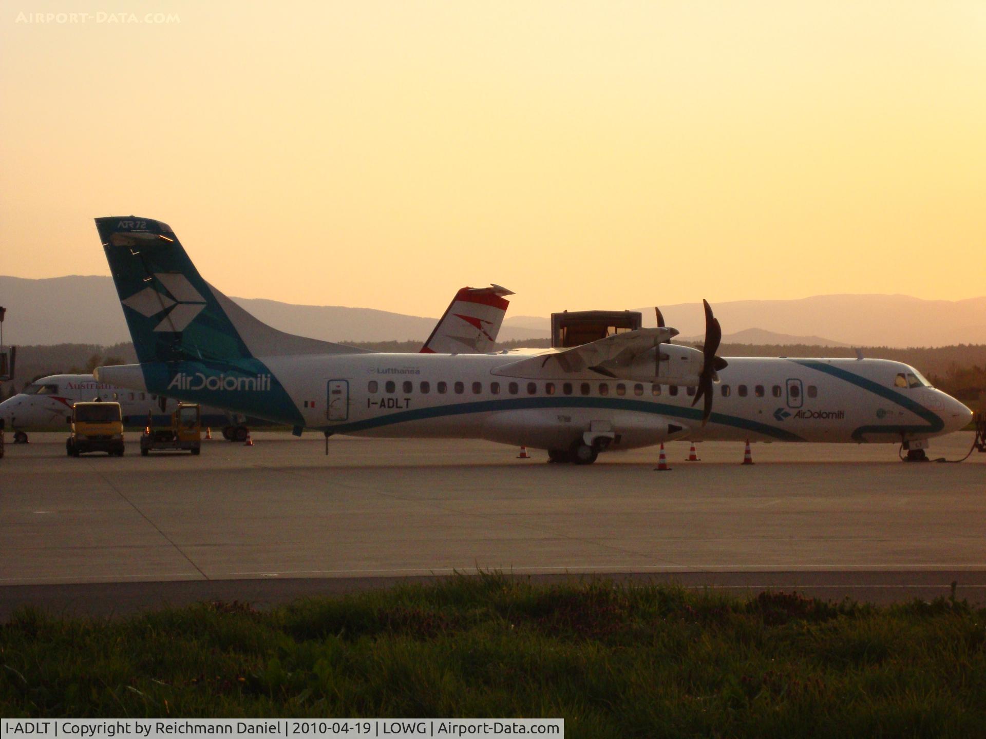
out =
[[202,279],[167,224],[122,216],[96,228],[141,363],[364,351],[257,320]]

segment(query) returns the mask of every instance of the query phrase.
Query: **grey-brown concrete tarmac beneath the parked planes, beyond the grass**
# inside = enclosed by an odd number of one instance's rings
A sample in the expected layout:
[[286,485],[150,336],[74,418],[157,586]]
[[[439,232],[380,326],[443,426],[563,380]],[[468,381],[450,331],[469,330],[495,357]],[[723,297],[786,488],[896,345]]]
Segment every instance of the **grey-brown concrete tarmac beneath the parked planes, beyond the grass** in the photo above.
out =
[[[879,601],[957,580],[959,597],[986,600],[978,452],[905,464],[890,445],[759,443],[743,467],[740,443],[701,443],[689,463],[677,442],[659,473],[656,449],[576,467],[471,440],[333,437],[325,456],[320,436],[261,433],[198,457],[145,458],[131,442],[123,458],[73,459],[64,436],[8,441],[0,460],[0,616],[210,593],[282,602],[477,569]],[[935,439],[930,456],[960,457],[971,441]],[[257,582],[217,582],[245,579]]]

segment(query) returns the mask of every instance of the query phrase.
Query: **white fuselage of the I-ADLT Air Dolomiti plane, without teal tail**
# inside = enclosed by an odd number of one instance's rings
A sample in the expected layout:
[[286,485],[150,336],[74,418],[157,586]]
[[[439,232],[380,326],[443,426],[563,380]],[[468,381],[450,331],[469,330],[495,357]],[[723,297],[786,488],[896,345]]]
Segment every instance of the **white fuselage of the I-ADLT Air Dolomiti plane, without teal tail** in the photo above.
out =
[[[257,359],[305,427],[333,434],[473,437],[561,449],[587,433],[609,432],[609,448],[627,449],[673,438],[899,442],[947,434],[971,418],[964,405],[923,382],[895,384],[898,375],[915,372],[885,360],[728,358],[703,427],[701,403],[691,405],[693,387],[607,379],[591,370],[538,379],[498,374],[517,362],[514,353]],[[101,378],[144,387],[139,366],[100,371]],[[203,395],[171,384],[170,396],[225,405],[222,389]],[[274,407],[268,417],[290,423]]]

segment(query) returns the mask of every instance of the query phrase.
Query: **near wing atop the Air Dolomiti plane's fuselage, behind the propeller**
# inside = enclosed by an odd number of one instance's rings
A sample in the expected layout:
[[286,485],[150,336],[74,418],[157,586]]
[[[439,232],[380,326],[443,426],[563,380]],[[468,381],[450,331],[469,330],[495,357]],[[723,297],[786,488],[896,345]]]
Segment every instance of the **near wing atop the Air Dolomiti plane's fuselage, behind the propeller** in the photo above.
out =
[[621,368],[629,368],[641,355],[652,351],[677,335],[673,328],[638,328],[583,344],[512,362],[493,374],[509,377],[558,377],[561,374],[619,376]]

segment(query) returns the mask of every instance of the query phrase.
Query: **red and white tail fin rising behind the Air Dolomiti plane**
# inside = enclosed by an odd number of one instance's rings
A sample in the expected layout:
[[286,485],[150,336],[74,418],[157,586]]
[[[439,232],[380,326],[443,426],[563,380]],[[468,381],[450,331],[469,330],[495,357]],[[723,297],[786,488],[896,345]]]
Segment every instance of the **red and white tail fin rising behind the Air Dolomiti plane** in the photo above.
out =
[[462,288],[449,303],[422,354],[483,354],[493,350],[500,324],[514,295],[506,288]]

